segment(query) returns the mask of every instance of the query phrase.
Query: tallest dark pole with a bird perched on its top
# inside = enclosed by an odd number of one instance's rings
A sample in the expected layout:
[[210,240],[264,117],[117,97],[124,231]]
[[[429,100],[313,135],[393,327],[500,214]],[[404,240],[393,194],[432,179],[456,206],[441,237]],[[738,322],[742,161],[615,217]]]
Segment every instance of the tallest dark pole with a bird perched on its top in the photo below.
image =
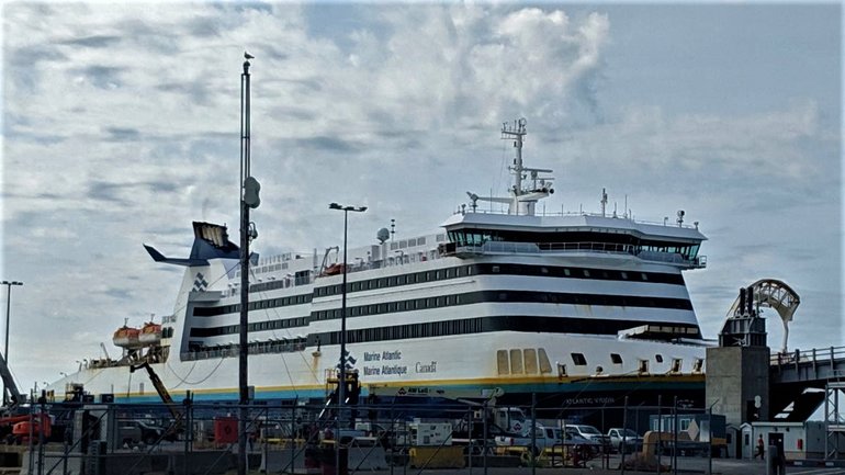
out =
[[240,335],[238,339],[238,475],[247,473],[247,419],[249,411],[249,206],[245,184],[249,178],[249,57],[245,54],[240,75]]

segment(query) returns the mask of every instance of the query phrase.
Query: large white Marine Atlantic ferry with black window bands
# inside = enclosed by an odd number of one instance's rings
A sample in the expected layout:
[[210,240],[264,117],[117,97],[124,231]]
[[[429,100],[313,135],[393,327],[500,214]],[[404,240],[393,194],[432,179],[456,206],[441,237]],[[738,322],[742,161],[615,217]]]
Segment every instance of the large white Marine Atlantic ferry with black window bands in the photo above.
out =
[[[349,371],[371,400],[410,396],[515,404],[606,406],[656,402],[660,393],[703,400],[705,349],[681,274],[706,267],[698,223],[642,223],[628,214],[538,214],[554,192],[551,170],[522,161],[526,121],[502,138],[516,157],[509,196],[478,196],[424,236],[250,265],[248,382],[256,400],[324,399],[340,361],[348,279]],[[500,212],[480,202],[497,203]],[[495,207],[495,206],[494,206]],[[225,226],[193,223],[173,314],[114,333],[122,358],[87,361],[55,382],[92,398],[154,403],[147,363],[174,397],[238,400],[239,249]]]

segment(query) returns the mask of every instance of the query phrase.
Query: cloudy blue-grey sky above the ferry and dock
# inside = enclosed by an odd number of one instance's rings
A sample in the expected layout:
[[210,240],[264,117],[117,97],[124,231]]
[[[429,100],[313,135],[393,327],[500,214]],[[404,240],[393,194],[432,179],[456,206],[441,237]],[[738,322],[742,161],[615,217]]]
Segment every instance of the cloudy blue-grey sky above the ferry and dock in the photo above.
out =
[[[500,124],[528,121],[548,211],[685,210],[706,336],[737,289],[802,298],[790,347],[841,346],[842,7],[5,2],[2,261],[20,385],[172,312],[191,220],[236,234],[239,87],[252,66],[252,217],[267,256],[432,231],[504,193]],[[5,297],[4,291],[0,295]],[[768,323],[779,344],[780,324]],[[116,351],[111,350],[112,353]]]

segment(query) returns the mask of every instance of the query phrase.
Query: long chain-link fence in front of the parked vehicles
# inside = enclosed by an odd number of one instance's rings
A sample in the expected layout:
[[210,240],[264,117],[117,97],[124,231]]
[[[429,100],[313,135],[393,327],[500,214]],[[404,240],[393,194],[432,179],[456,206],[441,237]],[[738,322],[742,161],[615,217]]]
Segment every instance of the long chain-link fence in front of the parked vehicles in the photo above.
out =
[[[10,425],[24,474],[224,474],[237,468],[237,405],[35,405]],[[701,408],[537,407],[483,403],[246,408],[247,467],[257,473],[533,473],[593,467],[710,473],[724,419]],[[720,421],[721,420],[721,421]]]

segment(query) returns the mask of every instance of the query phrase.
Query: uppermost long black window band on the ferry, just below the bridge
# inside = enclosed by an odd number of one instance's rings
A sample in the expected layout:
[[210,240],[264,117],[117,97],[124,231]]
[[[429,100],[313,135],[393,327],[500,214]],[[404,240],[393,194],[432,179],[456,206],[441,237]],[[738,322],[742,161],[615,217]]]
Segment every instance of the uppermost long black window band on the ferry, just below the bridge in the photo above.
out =
[[[684,284],[679,274],[666,274],[657,272],[633,272],[609,269],[562,268],[549,265],[526,264],[472,264],[460,265],[433,271],[414,272],[410,274],[394,275],[390,278],[370,279],[367,281],[347,283],[347,292],[370,291],[402,285],[436,282],[448,279],[463,278],[475,274],[508,274],[508,275],[537,275],[550,278],[593,279],[610,281],[653,282],[667,284]],[[342,284],[316,287],[314,295],[323,297],[342,293]]]

